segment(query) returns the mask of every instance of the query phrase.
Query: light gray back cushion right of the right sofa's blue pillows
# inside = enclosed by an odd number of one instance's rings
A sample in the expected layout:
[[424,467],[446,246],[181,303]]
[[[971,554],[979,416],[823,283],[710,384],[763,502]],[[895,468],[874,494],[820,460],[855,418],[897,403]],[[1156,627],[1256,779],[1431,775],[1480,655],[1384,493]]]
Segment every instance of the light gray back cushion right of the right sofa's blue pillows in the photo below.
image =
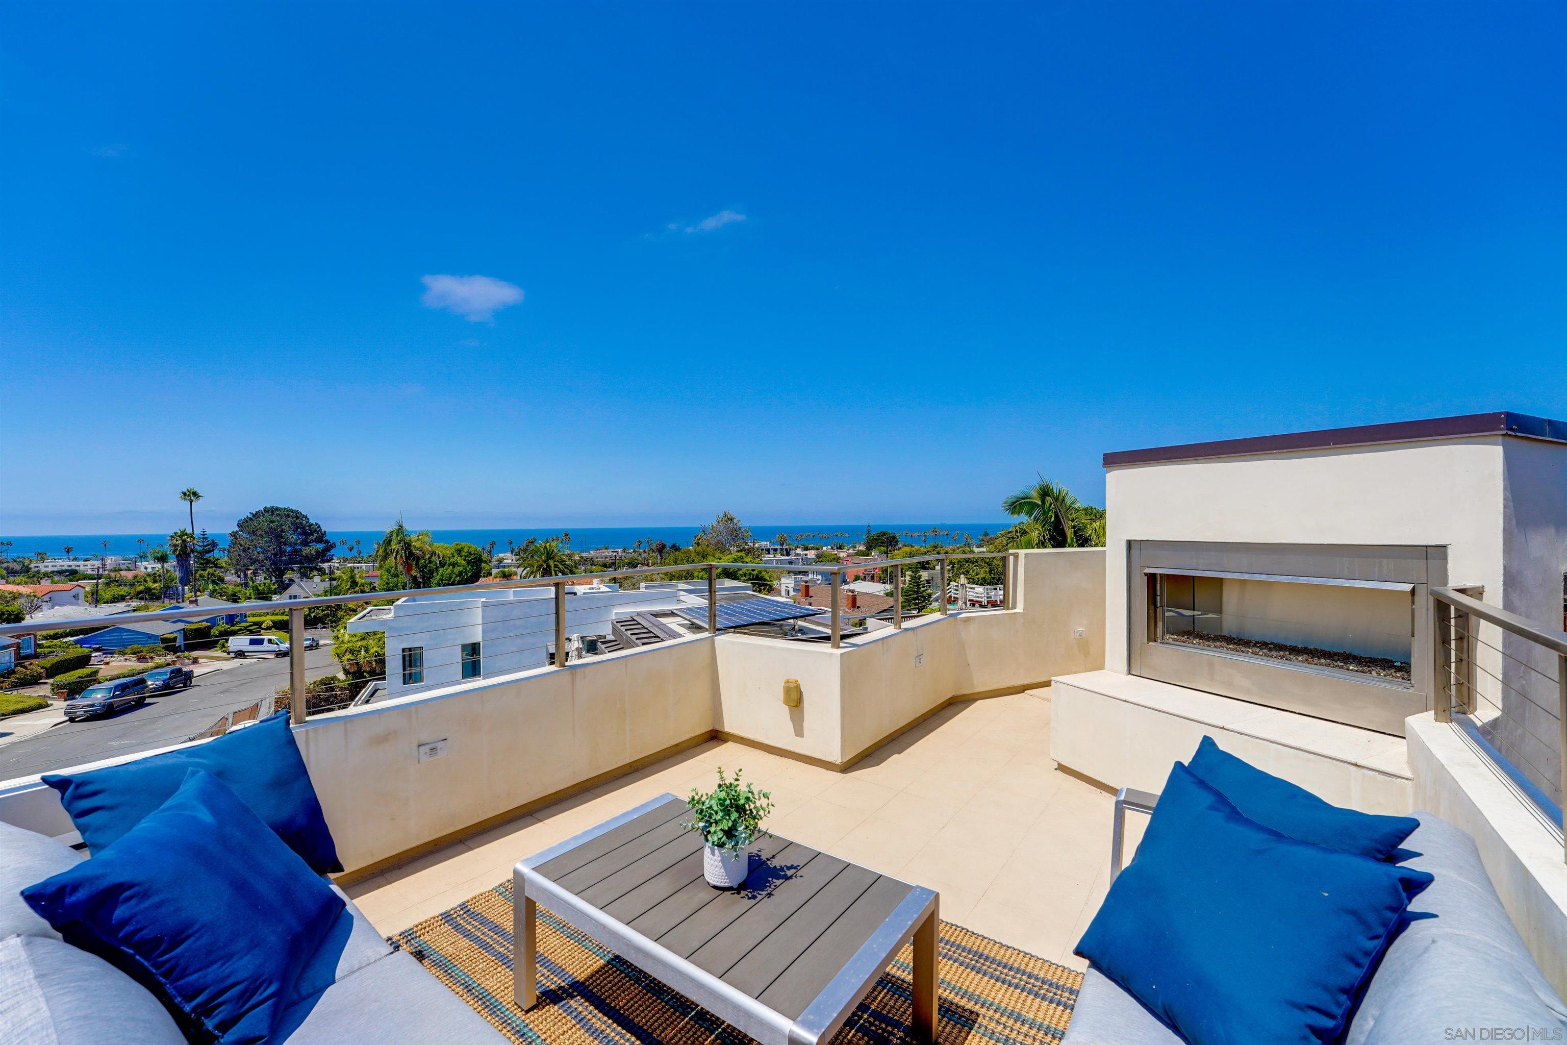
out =
[[1412,920],[1366,987],[1346,1045],[1468,1040],[1464,1032],[1498,1026],[1567,1040],[1567,1007],[1523,946],[1475,841],[1431,813],[1415,816],[1404,849],[1420,855],[1402,863],[1435,880],[1410,902]]

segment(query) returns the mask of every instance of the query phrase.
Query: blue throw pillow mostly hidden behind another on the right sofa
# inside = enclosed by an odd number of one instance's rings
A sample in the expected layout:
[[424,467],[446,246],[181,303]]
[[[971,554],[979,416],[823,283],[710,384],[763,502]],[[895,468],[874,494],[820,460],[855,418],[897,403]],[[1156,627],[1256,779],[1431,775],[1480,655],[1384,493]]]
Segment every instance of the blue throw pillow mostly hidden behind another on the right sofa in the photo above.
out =
[[1188,766],[1247,819],[1301,841],[1387,860],[1420,827],[1413,816],[1377,816],[1324,802],[1305,788],[1222,750],[1203,736]]

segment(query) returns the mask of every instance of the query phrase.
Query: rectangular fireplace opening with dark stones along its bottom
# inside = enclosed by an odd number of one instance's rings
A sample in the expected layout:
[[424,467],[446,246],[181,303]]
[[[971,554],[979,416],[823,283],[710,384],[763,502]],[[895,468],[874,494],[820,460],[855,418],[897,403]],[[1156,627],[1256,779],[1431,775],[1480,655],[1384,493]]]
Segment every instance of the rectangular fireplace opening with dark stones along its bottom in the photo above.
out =
[[1149,636],[1282,666],[1409,686],[1409,584],[1150,570]]

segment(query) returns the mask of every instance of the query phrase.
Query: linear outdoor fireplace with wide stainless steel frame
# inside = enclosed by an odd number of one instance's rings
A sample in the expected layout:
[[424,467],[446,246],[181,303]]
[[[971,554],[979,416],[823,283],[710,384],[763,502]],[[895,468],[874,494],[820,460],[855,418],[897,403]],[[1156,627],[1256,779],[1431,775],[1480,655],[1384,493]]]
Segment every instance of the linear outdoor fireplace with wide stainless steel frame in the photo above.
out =
[[1385,733],[1431,705],[1446,548],[1128,542],[1131,674]]

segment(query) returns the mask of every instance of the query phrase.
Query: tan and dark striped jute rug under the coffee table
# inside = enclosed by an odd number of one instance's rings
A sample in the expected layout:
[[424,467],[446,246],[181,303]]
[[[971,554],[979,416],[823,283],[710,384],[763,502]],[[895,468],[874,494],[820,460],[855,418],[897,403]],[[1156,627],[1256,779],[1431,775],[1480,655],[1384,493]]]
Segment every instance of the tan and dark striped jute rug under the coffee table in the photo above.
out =
[[[511,882],[389,937],[514,1042],[744,1045],[747,1036],[539,909],[539,1004],[511,1000]],[[910,1042],[909,948],[834,1039]],[[940,1040],[1059,1042],[1083,974],[942,923]]]

